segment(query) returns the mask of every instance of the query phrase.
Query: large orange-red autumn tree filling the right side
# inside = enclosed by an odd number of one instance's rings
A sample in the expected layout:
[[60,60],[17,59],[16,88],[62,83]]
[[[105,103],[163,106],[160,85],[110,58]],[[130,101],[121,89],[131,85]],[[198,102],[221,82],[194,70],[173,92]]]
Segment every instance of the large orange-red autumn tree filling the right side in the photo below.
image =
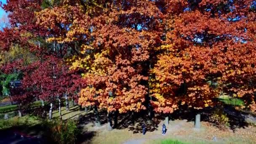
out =
[[254,75],[247,75],[254,65],[248,60],[255,54],[255,34],[248,30],[254,22],[253,0],[170,2],[165,14],[166,40],[159,48],[164,51],[152,69],[156,110],[171,113],[177,103],[201,109],[213,104],[220,89],[248,88]]

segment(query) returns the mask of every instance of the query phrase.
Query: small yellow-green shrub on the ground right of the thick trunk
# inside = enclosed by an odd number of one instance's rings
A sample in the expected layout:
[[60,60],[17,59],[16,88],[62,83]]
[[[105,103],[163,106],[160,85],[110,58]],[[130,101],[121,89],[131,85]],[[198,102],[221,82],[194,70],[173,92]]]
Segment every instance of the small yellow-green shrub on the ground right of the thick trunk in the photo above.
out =
[[223,112],[222,108],[217,108],[213,111],[210,121],[214,123],[219,129],[225,129],[229,126],[229,118]]

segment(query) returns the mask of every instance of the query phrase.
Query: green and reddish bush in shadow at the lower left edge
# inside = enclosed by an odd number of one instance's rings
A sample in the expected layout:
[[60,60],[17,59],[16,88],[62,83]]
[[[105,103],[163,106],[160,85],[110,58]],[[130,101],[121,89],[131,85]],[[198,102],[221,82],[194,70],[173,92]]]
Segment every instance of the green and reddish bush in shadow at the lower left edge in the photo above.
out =
[[80,130],[74,120],[60,121],[52,120],[45,121],[44,128],[48,139],[52,139],[57,144],[75,144],[77,135]]

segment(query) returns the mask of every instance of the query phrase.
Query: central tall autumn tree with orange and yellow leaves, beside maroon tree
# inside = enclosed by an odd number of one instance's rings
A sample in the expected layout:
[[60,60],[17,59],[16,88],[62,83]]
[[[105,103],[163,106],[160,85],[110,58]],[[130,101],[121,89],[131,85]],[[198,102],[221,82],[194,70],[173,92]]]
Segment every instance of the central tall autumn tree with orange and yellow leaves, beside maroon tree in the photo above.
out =
[[108,115],[146,109],[143,68],[161,41],[163,16],[154,2],[65,1],[37,16],[37,24],[58,33],[48,41],[79,52],[70,69],[80,69],[88,82],[80,104],[107,108]]

